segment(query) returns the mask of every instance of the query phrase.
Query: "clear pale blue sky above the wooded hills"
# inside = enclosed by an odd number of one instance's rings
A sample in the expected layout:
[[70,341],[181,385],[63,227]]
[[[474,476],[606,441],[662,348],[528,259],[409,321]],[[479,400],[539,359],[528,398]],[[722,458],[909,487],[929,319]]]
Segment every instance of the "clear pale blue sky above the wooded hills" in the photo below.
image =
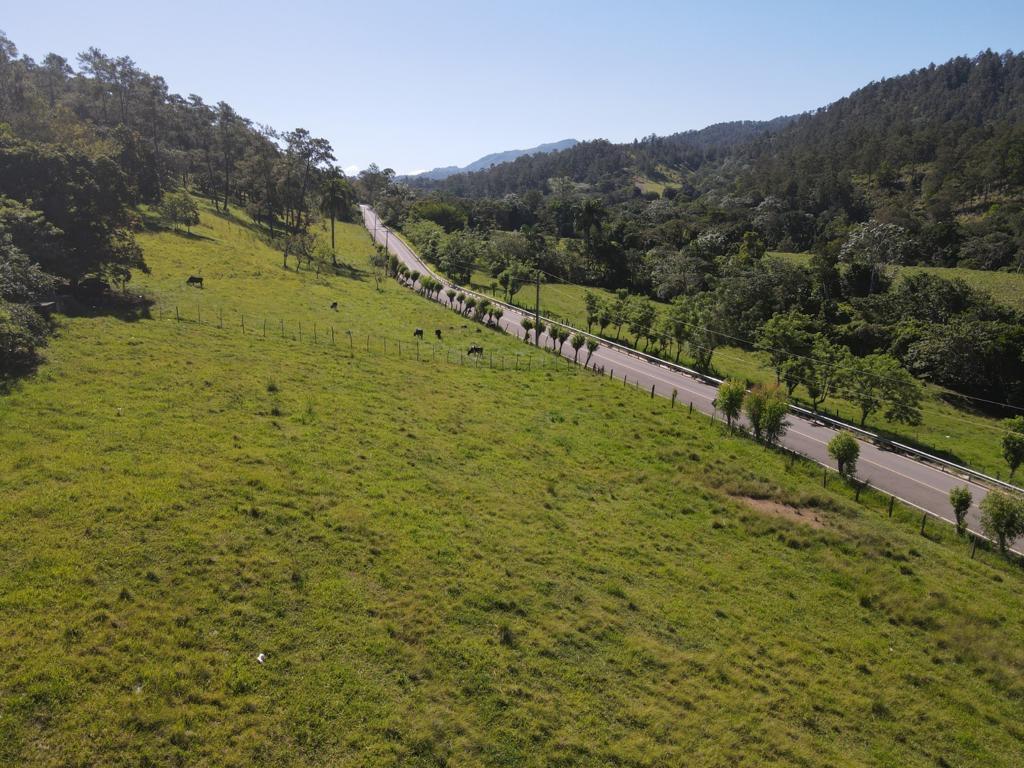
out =
[[813,109],[883,77],[1024,48],[1024,0],[5,3],[18,49],[95,45],[350,171],[464,165]]

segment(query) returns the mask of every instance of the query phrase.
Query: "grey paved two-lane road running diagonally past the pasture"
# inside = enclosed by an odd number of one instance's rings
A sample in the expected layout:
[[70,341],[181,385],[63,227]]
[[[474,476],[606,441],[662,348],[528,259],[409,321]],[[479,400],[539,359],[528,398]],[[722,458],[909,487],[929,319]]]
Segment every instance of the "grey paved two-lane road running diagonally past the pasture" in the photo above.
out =
[[[377,214],[369,206],[361,206],[364,223],[382,245],[386,243],[388,250],[398,257],[411,269],[422,273],[434,272],[420,260],[419,256],[406,243],[390,232],[377,218]],[[445,284],[440,275],[435,275]],[[439,292],[443,297],[443,292]],[[443,303],[443,298],[439,299]],[[543,309],[543,297],[542,297]],[[524,316],[532,316],[529,312],[515,307],[506,308],[502,316],[502,328],[513,336],[522,338],[524,331],[520,321]],[[547,335],[541,337],[541,343],[549,341]],[[550,347],[549,347],[550,348]],[[571,358],[572,349],[565,345],[565,356]],[[586,350],[584,351],[586,354]],[[631,355],[611,345],[602,344],[591,358],[591,366],[604,367],[610,374],[622,380],[628,377],[629,382],[639,382],[648,392],[654,387],[655,394],[671,397],[672,391],[679,393],[679,401],[688,404],[706,414],[713,414],[712,401],[715,399],[716,388],[690,376],[675,371],[669,367],[658,366],[647,359]],[[790,418],[790,428],[782,438],[785,447],[796,451],[824,466],[835,468],[835,462],[828,456],[826,445],[836,435],[831,427],[815,423],[809,419],[796,416]],[[900,501],[927,511],[936,517],[953,521],[952,509],[949,506],[949,490],[956,485],[967,485],[974,497],[974,504],[968,514],[971,530],[980,531],[978,524],[978,503],[988,493],[985,486],[954,474],[950,474],[935,466],[911,459],[907,456],[883,451],[870,442],[861,441],[860,459],[857,461],[858,476],[872,486],[895,496]],[[1018,547],[1019,549],[1019,547]]]

